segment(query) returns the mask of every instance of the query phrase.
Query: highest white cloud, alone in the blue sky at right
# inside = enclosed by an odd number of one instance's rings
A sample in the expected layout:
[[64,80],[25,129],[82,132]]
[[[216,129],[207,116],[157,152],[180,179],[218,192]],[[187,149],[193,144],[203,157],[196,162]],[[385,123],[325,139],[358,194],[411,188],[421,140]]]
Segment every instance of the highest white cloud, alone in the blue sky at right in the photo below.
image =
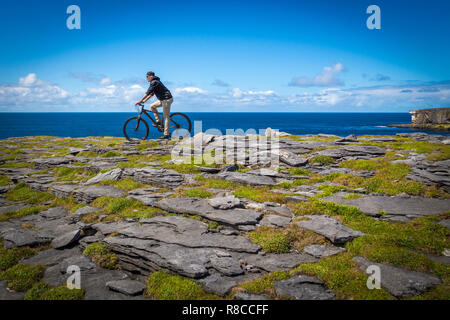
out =
[[344,71],[344,65],[340,62],[335,63],[331,67],[324,67],[322,72],[310,79],[308,77],[296,77],[289,82],[289,86],[293,87],[328,87],[343,86],[344,82],[337,76]]

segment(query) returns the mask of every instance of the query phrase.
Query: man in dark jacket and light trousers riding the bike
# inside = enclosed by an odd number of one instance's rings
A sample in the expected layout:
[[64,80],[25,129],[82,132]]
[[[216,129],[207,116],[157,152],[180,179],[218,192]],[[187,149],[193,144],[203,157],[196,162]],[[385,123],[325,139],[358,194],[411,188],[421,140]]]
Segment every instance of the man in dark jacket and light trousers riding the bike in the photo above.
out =
[[136,102],[136,105],[147,102],[153,95],[156,95],[156,100],[150,105],[150,109],[155,115],[156,123],[161,126],[161,118],[159,117],[158,110],[156,108],[163,107],[163,119],[164,119],[164,135],[160,139],[170,139],[169,131],[169,113],[170,106],[173,102],[172,94],[165,85],[162,84],[159,77],[155,76],[155,73],[147,72],[147,81],[150,82],[147,92],[141,100]]

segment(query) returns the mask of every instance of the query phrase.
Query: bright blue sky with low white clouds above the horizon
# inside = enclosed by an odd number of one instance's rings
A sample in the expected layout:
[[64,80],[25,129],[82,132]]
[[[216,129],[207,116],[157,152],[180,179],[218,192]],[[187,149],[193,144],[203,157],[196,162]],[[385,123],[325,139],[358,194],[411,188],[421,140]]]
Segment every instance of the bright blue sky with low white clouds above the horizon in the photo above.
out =
[[[81,9],[69,30],[66,9]],[[369,5],[381,29],[369,30]],[[450,1],[3,0],[0,111],[132,111],[154,71],[172,110],[450,106]]]

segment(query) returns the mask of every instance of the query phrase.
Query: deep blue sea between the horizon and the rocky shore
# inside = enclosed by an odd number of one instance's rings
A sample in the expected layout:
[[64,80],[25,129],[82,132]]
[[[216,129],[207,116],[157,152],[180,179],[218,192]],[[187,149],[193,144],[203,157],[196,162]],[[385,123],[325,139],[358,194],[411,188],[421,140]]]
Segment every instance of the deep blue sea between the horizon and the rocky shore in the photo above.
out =
[[[409,113],[246,113],[186,112],[192,123],[202,121],[201,129],[279,129],[291,134],[327,133],[392,135],[400,132],[444,132],[389,128],[388,124],[410,123]],[[59,137],[122,137],[125,120],[136,113],[0,113],[0,139],[34,135]],[[159,136],[153,127],[149,138]],[[197,127],[198,129],[198,127]]]

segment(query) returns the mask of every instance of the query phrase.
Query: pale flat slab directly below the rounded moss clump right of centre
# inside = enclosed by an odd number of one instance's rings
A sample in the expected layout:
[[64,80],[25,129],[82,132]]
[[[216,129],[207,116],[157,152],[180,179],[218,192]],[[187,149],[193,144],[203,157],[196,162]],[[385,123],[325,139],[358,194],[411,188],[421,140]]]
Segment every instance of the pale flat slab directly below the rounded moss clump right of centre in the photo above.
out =
[[317,261],[316,258],[301,253],[250,255],[244,258],[244,260],[248,265],[252,265],[267,272],[288,271],[299,264]]

